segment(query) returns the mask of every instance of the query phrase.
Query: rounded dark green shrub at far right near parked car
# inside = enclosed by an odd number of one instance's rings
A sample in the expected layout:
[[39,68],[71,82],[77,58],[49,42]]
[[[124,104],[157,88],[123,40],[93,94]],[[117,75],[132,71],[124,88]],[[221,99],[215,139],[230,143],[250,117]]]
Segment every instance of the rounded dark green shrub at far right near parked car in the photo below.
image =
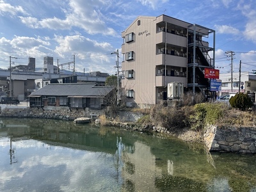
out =
[[238,93],[234,97],[229,99],[230,106],[232,108],[240,109],[241,111],[245,111],[248,108],[252,108],[253,102],[250,96],[246,93]]

